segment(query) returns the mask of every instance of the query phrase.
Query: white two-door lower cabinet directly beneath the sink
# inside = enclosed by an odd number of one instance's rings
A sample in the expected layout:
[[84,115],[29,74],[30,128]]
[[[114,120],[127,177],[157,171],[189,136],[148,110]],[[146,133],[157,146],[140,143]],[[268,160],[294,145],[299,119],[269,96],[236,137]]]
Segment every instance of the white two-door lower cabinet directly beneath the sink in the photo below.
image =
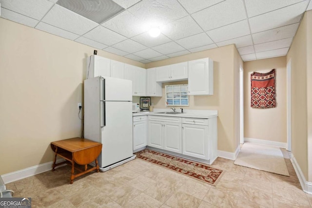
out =
[[148,146],[182,153],[180,117],[150,115],[148,120]]

